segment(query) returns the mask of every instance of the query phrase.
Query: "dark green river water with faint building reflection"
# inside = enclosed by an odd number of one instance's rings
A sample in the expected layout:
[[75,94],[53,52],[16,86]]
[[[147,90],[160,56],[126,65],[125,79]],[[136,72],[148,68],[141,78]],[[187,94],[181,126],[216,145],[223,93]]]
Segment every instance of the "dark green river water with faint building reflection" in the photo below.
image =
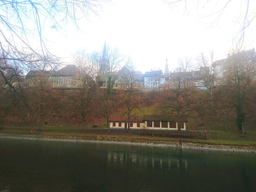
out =
[[256,191],[256,154],[0,138],[0,191]]

